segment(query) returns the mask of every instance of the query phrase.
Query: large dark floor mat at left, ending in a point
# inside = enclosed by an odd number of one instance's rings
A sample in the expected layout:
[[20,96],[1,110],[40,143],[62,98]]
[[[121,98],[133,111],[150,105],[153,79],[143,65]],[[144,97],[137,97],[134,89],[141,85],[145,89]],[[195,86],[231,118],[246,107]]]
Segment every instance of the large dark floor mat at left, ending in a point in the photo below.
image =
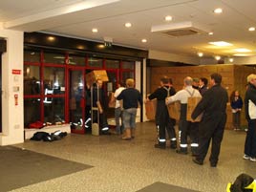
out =
[[0,191],[51,180],[91,167],[12,146],[0,146]]

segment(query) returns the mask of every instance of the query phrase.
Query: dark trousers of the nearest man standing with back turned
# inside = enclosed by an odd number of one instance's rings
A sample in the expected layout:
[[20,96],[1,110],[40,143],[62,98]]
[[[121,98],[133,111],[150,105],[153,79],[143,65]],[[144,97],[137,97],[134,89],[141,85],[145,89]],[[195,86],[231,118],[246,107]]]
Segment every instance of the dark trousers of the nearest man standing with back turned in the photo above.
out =
[[225,113],[204,115],[199,123],[199,148],[198,160],[204,160],[211,141],[210,162],[217,163],[219,160],[221,143],[224,137]]

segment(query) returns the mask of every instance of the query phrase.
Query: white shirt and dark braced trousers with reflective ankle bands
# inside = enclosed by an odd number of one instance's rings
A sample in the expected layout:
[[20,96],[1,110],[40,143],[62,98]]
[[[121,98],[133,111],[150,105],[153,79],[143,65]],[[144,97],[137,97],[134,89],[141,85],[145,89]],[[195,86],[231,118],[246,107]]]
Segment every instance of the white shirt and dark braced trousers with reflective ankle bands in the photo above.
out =
[[166,104],[177,100],[181,101],[181,116],[179,121],[180,150],[177,150],[177,153],[187,154],[187,137],[190,134],[192,154],[196,155],[198,148],[198,123],[186,120],[187,98],[190,96],[202,97],[198,90],[194,89],[191,85],[187,85],[183,90],[177,92],[176,95],[169,96],[166,99]]

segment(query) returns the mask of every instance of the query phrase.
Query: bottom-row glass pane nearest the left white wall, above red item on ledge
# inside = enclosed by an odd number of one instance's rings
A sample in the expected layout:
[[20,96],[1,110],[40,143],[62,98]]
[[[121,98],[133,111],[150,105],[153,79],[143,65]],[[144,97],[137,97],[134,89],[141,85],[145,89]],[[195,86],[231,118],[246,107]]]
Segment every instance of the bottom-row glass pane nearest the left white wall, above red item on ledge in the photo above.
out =
[[40,98],[24,98],[24,127],[40,120]]

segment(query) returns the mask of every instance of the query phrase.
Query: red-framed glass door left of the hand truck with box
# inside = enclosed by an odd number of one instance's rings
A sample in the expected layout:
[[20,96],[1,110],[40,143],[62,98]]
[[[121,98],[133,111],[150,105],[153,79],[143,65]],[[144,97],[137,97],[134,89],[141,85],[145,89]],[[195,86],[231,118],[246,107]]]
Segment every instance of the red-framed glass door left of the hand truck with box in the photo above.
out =
[[85,133],[85,88],[83,70],[69,70],[69,114],[72,133]]

